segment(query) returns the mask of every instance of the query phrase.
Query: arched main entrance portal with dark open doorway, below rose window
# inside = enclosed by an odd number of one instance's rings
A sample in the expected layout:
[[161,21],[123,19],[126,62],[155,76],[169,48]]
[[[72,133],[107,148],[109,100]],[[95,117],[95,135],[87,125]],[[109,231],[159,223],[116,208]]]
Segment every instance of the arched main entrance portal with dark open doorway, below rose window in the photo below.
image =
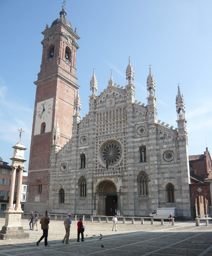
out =
[[98,186],[98,214],[113,216],[118,211],[118,194],[115,183],[104,180]]

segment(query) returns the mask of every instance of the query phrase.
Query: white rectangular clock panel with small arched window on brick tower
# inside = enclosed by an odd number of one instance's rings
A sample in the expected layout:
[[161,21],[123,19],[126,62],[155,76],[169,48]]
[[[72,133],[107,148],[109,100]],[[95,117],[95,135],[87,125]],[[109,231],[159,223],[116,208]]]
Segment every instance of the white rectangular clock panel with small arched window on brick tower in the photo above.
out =
[[34,135],[51,131],[54,98],[37,103]]

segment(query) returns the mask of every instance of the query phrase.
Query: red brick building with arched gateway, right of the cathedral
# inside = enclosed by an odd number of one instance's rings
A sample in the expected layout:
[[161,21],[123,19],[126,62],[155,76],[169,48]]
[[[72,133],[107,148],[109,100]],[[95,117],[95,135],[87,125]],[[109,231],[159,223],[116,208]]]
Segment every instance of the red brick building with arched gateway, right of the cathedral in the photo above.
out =
[[209,215],[211,212],[211,157],[206,148],[204,154],[189,155],[191,217]]

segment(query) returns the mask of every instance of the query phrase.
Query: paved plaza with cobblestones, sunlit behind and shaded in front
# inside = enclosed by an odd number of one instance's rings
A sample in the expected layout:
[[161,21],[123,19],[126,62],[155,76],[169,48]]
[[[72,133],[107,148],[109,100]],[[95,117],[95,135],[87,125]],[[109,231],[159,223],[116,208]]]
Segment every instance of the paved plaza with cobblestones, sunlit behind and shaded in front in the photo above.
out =
[[[4,223],[5,219],[1,217],[1,226]],[[108,223],[91,223],[86,219],[83,222],[85,241],[77,243],[77,221],[72,221],[69,244],[63,244],[62,239],[65,235],[63,220],[51,220],[48,233],[48,244],[51,246],[45,247],[44,240],[39,246],[36,246],[36,242],[43,233],[40,224],[38,224],[38,231],[31,231],[28,230],[29,221],[22,219],[25,232],[30,232],[29,239],[0,240],[0,256],[212,255],[211,223],[209,226],[205,226],[205,222],[201,222],[200,227],[196,227],[194,221],[175,222],[174,226],[171,226],[168,221],[164,221],[163,226],[160,225],[160,221],[155,221],[154,225],[150,225],[150,221],[144,223],[141,225],[140,221],[135,221],[135,224],[131,224],[131,221],[126,221],[126,224],[122,224],[120,221],[117,226],[118,231],[114,232],[111,219]],[[103,235],[101,240],[99,240],[100,234]],[[104,245],[104,248],[101,247],[101,244]]]

